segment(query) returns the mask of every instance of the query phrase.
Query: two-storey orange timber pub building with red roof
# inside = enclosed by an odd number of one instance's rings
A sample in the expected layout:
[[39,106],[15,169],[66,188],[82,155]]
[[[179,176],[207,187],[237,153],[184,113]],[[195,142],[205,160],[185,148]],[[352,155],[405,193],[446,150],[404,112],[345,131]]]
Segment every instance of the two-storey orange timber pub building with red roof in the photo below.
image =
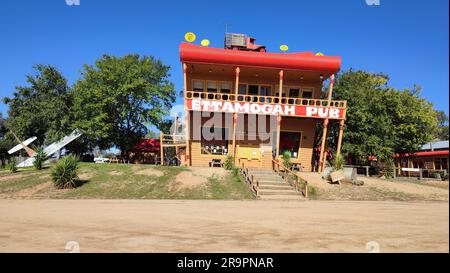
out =
[[[180,155],[185,165],[211,166],[232,155],[237,166],[272,168],[272,161],[289,151],[293,163],[312,171],[320,122],[321,171],[330,120],[340,120],[340,153],[347,102],[332,99],[340,57],[271,53],[254,38],[230,33],[223,49],[186,42],[179,48],[186,124]],[[328,96],[322,98],[327,79]]]

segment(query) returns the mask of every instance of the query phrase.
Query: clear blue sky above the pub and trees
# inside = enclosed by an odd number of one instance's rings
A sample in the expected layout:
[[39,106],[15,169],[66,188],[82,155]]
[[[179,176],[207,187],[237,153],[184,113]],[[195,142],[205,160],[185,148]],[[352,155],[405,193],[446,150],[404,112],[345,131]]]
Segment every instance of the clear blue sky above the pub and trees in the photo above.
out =
[[[102,54],[153,55],[172,67],[182,89],[178,45],[188,31],[223,46],[225,23],[269,51],[314,51],[350,67],[383,72],[396,88],[448,114],[448,0],[144,1],[6,0],[0,5],[0,97],[10,96],[35,64],[52,64],[73,83]],[[178,100],[181,102],[181,99]],[[7,107],[0,104],[6,114]]]

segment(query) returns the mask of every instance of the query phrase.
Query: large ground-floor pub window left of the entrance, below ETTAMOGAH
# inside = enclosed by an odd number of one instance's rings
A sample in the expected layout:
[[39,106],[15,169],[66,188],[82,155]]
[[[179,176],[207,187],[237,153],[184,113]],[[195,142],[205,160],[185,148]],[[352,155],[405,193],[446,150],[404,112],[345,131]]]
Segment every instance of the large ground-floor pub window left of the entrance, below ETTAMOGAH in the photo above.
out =
[[202,154],[226,155],[228,153],[227,131],[226,128],[202,127]]

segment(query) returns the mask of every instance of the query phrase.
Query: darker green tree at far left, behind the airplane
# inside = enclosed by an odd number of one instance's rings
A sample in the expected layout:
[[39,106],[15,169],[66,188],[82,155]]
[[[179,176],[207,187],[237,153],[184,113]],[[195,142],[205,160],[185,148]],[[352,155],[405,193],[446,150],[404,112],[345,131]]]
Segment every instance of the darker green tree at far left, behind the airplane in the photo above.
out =
[[71,94],[67,80],[51,65],[36,65],[29,86],[17,86],[8,108],[8,128],[22,139],[36,136],[35,145],[56,141],[70,131]]

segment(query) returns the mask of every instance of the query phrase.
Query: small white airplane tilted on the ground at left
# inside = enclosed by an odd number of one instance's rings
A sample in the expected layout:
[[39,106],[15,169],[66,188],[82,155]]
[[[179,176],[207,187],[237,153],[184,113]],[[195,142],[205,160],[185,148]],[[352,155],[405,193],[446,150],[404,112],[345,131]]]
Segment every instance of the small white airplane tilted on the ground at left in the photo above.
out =
[[[13,153],[15,153],[17,151],[20,151],[21,149],[24,149],[27,152],[29,158],[27,158],[23,162],[18,163],[17,167],[29,167],[29,166],[32,166],[33,162],[34,162],[34,155],[36,154],[36,151],[34,151],[30,147],[28,147],[28,145],[30,143],[32,143],[33,141],[35,141],[37,139],[37,137],[35,137],[35,136],[34,137],[30,137],[29,139],[27,139],[27,140],[22,142],[16,136],[16,134],[14,134],[12,131],[11,131],[11,133],[14,135],[14,138],[17,140],[17,142],[19,142],[19,144],[14,146],[13,148],[11,148],[8,151],[8,153],[9,154],[13,154]],[[59,141],[54,142],[54,143],[48,145],[47,147],[45,147],[44,148],[44,153],[47,156],[51,156],[52,154],[54,154],[58,150],[62,149],[67,144],[69,144],[70,142],[72,142],[75,139],[79,138],[83,133],[84,133],[83,130],[75,129],[70,135],[67,135],[67,136],[63,137],[62,139],[60,139]]]

